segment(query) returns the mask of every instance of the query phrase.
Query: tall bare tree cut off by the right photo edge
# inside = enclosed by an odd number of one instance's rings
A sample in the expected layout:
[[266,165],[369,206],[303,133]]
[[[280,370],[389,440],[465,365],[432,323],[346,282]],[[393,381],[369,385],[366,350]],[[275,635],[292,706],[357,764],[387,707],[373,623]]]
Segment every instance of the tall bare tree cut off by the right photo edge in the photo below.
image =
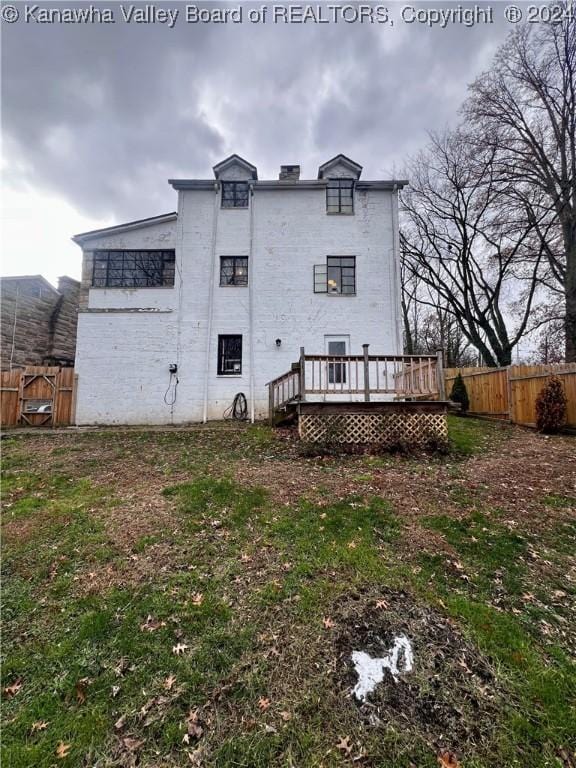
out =
[[561,289],[566,360],[576,361],[576,18],[569,0],[551,23],[510,34],[492,68],[470,88],[464,114],[477,148],[493,153],[494,181],[516,200],[540,238]]

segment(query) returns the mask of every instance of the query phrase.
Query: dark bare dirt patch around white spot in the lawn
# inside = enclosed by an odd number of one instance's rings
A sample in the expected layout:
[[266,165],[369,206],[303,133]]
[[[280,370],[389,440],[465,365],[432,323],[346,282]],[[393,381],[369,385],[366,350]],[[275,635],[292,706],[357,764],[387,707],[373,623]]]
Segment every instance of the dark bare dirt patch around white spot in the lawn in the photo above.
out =
[[407,592],[387,589],[343,595],[333,615],[337,684],[344,695],[350,695],[358,679],[354,651],[386,657],[398,636],[407,638],[413,650],[411,671],[395,679],[384,669],[384,680],[365,701],[353,697],[369,726],[409,728],[436,752],[490,743],[502,694],[490,662],[454,621]]

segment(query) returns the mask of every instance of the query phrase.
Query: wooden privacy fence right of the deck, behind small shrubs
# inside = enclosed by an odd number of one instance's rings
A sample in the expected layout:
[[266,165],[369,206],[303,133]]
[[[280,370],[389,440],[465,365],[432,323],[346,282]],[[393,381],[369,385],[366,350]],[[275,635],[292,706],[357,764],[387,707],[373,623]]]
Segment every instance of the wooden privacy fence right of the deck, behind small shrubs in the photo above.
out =
[[576,427],[576,363],[510,365],[507,368],[446,368],[446,392],[462,374],[470,399],[469,413],[536,426],[536,398],[552,376],[564,385],[567,425]]

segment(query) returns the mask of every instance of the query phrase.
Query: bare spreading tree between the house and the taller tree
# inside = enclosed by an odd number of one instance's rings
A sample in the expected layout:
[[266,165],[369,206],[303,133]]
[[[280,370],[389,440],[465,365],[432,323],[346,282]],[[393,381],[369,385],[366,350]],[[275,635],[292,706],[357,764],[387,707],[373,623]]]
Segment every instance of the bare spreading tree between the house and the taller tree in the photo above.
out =
[[[538,287],[544,247],[494,178],[495,151],[461,131],[433,136],[409,165],[401,233],[404,271],[420,304],[450,315],[486,365],[509,365]],[[511,329],[511,305],[526,286]]]

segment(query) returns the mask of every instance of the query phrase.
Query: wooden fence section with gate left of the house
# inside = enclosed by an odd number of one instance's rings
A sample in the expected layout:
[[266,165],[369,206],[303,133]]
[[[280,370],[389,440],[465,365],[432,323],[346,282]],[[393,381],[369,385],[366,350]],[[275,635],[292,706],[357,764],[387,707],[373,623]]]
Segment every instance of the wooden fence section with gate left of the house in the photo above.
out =
[[73,368],[29,366],[0,373],[3,427],[63,427],[74,423]]

